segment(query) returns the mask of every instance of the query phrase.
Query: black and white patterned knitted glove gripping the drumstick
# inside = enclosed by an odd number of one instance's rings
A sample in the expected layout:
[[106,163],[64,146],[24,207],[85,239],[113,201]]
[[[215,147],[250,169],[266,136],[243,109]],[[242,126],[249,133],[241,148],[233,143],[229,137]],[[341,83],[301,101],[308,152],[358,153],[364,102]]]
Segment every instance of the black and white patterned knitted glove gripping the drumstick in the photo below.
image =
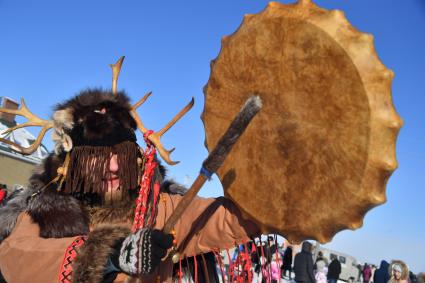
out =
[[172,245],[172,235],[159,230],[141,229],[124,239],[119,266],[131,275],[152,273]]

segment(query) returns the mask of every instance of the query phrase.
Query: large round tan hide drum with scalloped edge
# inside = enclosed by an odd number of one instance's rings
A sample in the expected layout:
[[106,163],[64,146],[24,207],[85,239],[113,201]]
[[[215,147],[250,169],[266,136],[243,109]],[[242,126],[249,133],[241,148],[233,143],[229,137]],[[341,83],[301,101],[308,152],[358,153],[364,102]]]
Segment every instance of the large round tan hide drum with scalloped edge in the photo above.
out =
[[327,242],[385,202],[402,120],[372,41],[306,0],[272,2],[223,38],[204,88],[205,143],[212,150],[241,104],[261,97],[218,176],[263,232]]

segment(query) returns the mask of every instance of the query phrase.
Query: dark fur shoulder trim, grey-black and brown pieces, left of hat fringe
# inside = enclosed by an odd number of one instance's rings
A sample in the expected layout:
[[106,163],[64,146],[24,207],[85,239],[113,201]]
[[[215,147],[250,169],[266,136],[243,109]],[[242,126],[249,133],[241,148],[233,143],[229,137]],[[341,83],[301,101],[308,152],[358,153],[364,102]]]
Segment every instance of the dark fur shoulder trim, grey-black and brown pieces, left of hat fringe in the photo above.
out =
[[[27,210],[32,220],[40,226],[40,236],[61,238],[84,235],[89,232],[89,218],[79,201],[70,195],[59,194],[55,184],[39,192],[57,175],[63,156],[50,154],[30,178],[30,186],[8,200],[0,208],[0,242],[9,236],[18,215]],[[38,193],[39,192],[39,193]],[[35,196],[33,196],[36,194]]]

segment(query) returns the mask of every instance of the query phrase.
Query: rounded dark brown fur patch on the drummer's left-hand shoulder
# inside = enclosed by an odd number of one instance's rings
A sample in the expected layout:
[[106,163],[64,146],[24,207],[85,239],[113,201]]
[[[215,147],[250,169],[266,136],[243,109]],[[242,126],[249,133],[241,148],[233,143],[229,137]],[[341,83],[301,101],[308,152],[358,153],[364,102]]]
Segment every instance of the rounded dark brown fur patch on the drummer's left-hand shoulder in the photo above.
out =
[[88,214],[71,195],[43,191],[29,200],[27,212],[40,226],[43,238],[73,237],[89,232]]

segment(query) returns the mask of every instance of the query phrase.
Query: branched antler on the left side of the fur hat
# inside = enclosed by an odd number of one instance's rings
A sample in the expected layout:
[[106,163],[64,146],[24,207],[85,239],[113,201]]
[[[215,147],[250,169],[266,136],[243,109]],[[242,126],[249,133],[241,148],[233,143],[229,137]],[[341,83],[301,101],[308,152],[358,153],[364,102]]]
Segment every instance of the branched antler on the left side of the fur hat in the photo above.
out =
[[53,121],[51,120],[43,120],[41,118],[39,118],[38,116],[34,115],[33,113],[31,113],[23,98],[21,98],[21,108],[19,109],[6,109],[6,108],[0,108],[0,112],[3,113],[9,113],[9,114],[15,114],[15,115],[21,115],[25,118],[28,119],[28,122],[17,125],[15,127],[9,128],[5,131],[3,131],[2,134],[7,134],[10,132],[13,132],[16,129],[19,128],[24,128],[24,127],[30,127],[30,126],[39,126],[39,127],[43,127],[40,131],[40,134],[38,134],[37,139],[35,140],[35,142],[30,146],[30,147],[22,147],[17,143],[14,143],[12,141],[9,141],[7,139],[4,138],[0,138],[0,142],[12,145],[12,149],[21,153],[21,154],[25,154],[25,155],[30,155],[31,153],[33,153],[34,151],[37,150],[37,148],[40,146],[41,141],[43,140],[44,135],[46,134],[46,132],[53,128]]

